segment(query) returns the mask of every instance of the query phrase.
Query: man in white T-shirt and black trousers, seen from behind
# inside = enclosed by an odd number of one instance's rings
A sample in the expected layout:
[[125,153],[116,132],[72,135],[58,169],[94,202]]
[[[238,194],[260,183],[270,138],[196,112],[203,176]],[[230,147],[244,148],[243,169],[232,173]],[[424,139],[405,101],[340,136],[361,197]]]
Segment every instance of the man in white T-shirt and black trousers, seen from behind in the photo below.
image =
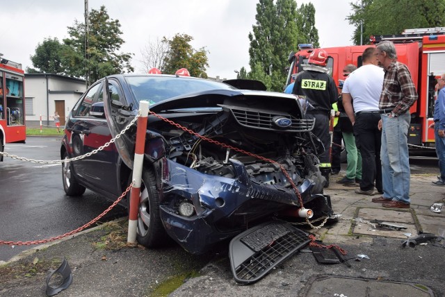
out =
[[384,72],[375,65],[374,51],[373,47],[364,50],[362,67],[350,74],[343,87],[343,105],[353,124],[357,148],[362,155],[362,180],[355,192],[364,195],[373,194],[374,187],[383,192],[378,104]]

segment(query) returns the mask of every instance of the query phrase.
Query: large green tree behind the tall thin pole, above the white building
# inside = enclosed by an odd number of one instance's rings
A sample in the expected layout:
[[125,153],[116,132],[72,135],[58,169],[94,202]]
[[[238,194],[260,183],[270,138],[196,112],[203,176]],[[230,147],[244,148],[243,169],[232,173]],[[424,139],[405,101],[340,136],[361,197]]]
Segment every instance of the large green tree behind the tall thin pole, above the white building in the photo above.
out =
[[105,6],[100,10],[92,9],[89,17],[88,51],[85,53],[85,24],[74,22],[68,27],[70,38],[63,40],[63,64],[67,74],[85,77],[88,71],[89,83],[110,74],[131,72],[131,56],[133,53],[119,53],[124,40],[120,35],[120,22],[111,19]]

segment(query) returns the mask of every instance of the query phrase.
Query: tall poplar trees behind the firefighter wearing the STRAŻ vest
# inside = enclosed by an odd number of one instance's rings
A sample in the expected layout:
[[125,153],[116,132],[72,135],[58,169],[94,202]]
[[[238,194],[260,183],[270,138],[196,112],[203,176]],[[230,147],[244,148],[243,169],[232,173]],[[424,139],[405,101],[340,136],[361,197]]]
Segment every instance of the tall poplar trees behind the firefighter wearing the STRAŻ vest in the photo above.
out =
[[[298,43],[318,44],[314,15],[312,4],[298,10],[295,0],[259,0],[257,23],[249,33],[249,77],[263,81],[268,90],[282,92],[289,53]],[[264,81],[266,76],[270,82]]]

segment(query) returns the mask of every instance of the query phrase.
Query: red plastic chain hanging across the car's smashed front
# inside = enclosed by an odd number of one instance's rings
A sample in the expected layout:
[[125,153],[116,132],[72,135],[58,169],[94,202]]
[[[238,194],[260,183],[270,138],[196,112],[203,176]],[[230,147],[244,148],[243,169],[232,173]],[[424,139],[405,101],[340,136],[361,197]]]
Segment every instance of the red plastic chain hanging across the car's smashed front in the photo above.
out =
[[228,145],[228,144],[223,144],[223,142],[218,142],[218,141],[215,140],[215,139],[211,139],[211,138],[209,138],[209,137],[202,136],[202,135],[196,133],[195,131],[190,130],[190,129],[184,127],[184,126],[181,126],[180,124],[177,124],[177,123],[175,123],[174,121],[171,121],[170,119],[166,119],[165,117],[162,117],[161,115],[156,114],[156,113],[154,113],[154,112],[152,112],[152,111],[149,111],[149,114],[154,115],[155,117],[161,119],[162,121],[166,121],[168,124],[170,124],[170,125],[172,125],[172,126],[175,126],[175,127],[179,128],[179,129],[181,129],[181,130],[184,130],[184,131],[186,131],[186,132],[188,132],[188,133],[190,133],[190,134],[192,134],[192,135],[195,135],[196,137],[199,137],[199,138],[201,138],[202,140],[204,140],[204,141],[206,141],[206,142],[210,142],[210,143],[212,143],[212,144],[216,144],[216,145],[218,145],[218,146],[223,146],[223,147],[225,147],[225,148],[229,148],[229,149],[231,149],[231,150],[237,151],[238,153],[243,153],[243,154],[245,154],[245,155],[250,155],[250,157],[257,158],[257,159],[259,159],[259,160],[263,160],[263,161],[265,161],[265,162],[270,162],[270,163],[273,163],[273,164],[277,164],[278,166],[280,166],[280,169],[281,169],[281,171],[284,173],[284,176],[286,176],[286,178],[288,178],[289,182],[290,182],[291,185],[292,185],[293,191],[296,193],[296,195],[297,195],[297,197],[298,197],[298,201],[300,201],[300,205],[301,205],[301,207],[303,207],[303,201],[302,201],[300,192],[298,192],[297,186],[295,185],[295,183],[293,183],[293,180],[291,179],[291,177],[290,177],[289,174],[287,173],[286,169],[282,166],[282,164],[280,164],[280,163],[278,163],[278,162],[276,162],[276,161],[274,161],[274,160],[270,160],[270,159],[268,159],[268,158],[264,158],[264,157],[262,157],[261,155],[255,155],[254,153],[250,153],[250,152],[248,152],[248,151],[244,151],[244,150],[241,149],[241,148],[236,148],[235,146],[230,146],[230,145]]

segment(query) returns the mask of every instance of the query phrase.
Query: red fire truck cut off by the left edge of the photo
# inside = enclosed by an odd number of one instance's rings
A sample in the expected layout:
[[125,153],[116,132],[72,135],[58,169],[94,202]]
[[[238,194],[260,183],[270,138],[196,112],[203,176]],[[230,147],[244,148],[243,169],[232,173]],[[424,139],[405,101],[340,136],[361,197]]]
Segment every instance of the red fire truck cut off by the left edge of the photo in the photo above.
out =
[[[10,142],[25,142],[24,71],[0,54],[0,151]],[[0,161],[3,161],[0,155]]]

